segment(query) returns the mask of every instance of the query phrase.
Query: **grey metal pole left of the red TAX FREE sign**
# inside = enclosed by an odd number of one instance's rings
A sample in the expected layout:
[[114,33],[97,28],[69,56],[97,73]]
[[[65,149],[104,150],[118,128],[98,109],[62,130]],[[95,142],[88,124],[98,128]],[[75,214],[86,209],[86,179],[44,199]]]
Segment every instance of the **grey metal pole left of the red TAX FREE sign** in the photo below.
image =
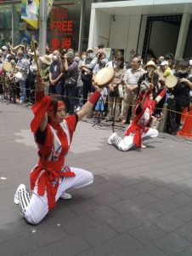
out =
[[40,19],[39,19],[39,55],[45,55],[47,44],[47,13],[48,3],[41,0],[39,3]]

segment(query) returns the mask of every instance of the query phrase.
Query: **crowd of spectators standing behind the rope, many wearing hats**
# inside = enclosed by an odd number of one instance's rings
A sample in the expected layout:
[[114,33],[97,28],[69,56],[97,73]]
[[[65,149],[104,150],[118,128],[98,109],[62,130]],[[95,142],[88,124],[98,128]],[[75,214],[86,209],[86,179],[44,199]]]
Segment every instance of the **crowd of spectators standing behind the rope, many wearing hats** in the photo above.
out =
[[[104,89],[95,106],[93,118],[114,119],[121,125],[133,119],[133,109],[138,102],[138,91],[146,90],[153,84],[153,97],[166,87],[165,80],[173,74],[178,84],[167,90],[167,96],[155,108],[155,117],[161,118],[165,102],[172,110],[167,119],[167,132],[178,131],[181,113],[189,108],[192,89],[192,58],[176,60],[171,53],[151,58],[144,65],[141,55],[134,55],[125,63],[120,52],[108,60],[104,45],[99,44],[96,51],[88,48],[82,53],[74,49],[54,50],[39,56],[35,44],[41,76],[45,81],[45,93],[60,96],[66,104],[67,113],[79,111],[94,91],[94,77],[101,68],[113,67],[115,76]],[[8,64],[9,63],[9,64]],[[37,64],[31,45],[23,42],[16,47],[6,44],[0,49],[0,93],[3,100],[13,103],[34,104],[34,86],[37,77]],[[114,106],[116,107],[114,109]]]

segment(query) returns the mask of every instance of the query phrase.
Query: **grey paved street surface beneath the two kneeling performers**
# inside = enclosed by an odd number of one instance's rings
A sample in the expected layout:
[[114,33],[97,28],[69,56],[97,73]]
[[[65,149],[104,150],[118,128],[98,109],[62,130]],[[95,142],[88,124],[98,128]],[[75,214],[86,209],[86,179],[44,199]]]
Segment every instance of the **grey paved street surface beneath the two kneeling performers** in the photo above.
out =
[[111,127],[80,122],[66,163],[93,172],[94,183],[32,226],[13,201],[37,162],[31,118],[0,102],[1,256],[192,255],[192,141],[163,134],[123,153],[106,143]]

